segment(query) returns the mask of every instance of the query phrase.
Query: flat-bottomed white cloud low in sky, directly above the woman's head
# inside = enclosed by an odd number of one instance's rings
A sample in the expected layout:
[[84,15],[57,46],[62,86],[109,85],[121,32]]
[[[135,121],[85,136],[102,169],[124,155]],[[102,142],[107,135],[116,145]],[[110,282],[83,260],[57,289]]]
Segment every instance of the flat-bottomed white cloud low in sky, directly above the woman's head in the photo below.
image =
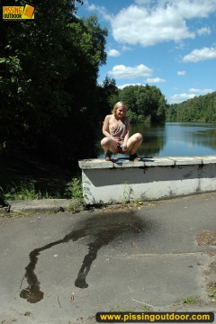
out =
[[112,71],[108,71],[107,74],[115,79],[132,79],[136,77],[151,76],[152,69],[144,66],[144,64],[140,64],[137,67],[125,67],[124,65],[118,65],[112,67]]

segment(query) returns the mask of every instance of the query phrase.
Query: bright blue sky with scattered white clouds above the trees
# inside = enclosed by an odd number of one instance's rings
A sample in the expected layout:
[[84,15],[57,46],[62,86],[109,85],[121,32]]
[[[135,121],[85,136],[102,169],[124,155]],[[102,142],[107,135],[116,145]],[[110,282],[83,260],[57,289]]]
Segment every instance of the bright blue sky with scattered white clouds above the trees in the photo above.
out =
[[167,103],[216,90],[216,0],[84,0],[108,29],[98,82],[156,85]]

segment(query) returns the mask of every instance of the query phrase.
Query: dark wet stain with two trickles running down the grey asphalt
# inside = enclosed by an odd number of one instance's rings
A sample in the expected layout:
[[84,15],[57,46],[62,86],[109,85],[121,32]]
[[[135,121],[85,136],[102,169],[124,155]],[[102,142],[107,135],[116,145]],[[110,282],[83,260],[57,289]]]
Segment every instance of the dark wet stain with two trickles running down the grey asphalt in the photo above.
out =
[[[31,251],[30,263],[25,267],[25,274],[28,287],[23,288],[20,297],[27,302],[35,303],[43,299],[44,293],[40,291],[40,281],[34,270],[37,265],[40,252],[58,244],[66,243],[70,240],[76,241],[80,238],[91,236],[92,240],[87,244],[88,253],[85,255],[83,264],[77,274],[75,285],[78,288],[87,288],[86,276],[88,275],[93,261],[97,257],[97,252],[101,247],[107,246],[115,238],[124,233],[140,233],[144,231],[143,220],[140,220],[134,211],[116,212],[115,214],[102,214],[89,217],[82,222],[80,229],[73,229],[64,238],[51,242],[44,247],[39,247]],[[22,288],[23,280],[21,283]]]

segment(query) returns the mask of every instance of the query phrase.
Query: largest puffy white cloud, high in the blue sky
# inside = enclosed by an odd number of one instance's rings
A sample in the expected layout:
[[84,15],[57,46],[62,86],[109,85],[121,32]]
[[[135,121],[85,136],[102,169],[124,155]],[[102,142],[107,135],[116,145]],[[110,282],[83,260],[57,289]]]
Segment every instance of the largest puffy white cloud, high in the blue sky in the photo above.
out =
[[170,4],[165,8],[158,4],[154,10],[130,5],[122,9],[111,24],[115,40],[144,47],[168,40],[178,42],[195,37],[195,33],[188,30],[183,17]]

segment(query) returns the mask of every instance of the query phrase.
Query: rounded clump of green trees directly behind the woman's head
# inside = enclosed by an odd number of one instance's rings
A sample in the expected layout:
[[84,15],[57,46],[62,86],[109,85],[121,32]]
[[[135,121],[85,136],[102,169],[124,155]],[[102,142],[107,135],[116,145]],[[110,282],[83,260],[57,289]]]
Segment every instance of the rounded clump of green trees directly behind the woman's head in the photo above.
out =
[[129,85],[112,95],[112,105],[122,100],[127,103],[130,122],[164,122],[167,103],[155,85]]

